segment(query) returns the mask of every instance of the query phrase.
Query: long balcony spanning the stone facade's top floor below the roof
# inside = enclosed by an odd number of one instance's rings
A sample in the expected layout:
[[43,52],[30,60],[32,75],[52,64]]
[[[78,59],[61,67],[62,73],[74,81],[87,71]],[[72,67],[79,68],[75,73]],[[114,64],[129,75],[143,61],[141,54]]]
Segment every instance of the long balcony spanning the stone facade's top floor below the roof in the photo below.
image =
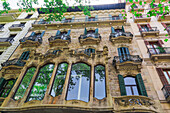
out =
[[[33,27],[34,29],[46,29],[46,28],[50,28],[50,29],[58,29],[58,27],[60,26],[69,26],[72,25],[72,28],[84,28],[85,26],[83,26],[83,24],[90,24],[90,26],[103,26],[103,25],[107,25],[110,26],[110,23],[112,25],[122,25],[126,22],[126,19],[123,18],[110,18],[110,17],[99,17],[98,19],[94,19],[93,21],[86,20],[84,19],[74,19],[74,21],[70,21],[70,20],[62,20],[62,21],[35,21],[33,23]],[[98,24],[98,26],[97,26]],[[58,26],[58,27],[57,27]],[[87,26],[88,27],[88,26]],[[63,28],[63,27],[62,27]]]

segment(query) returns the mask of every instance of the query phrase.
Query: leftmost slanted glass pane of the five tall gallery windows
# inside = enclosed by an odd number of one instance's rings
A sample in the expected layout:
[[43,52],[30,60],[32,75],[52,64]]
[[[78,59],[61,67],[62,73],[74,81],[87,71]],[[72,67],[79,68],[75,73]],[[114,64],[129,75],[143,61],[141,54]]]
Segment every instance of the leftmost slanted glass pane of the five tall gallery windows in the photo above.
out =
[[19,88],[17,89],[16,93],[15,93],[15,96],[14,96],[14,99],[15,100],[18,100],[20,98],[23,98],[24,94],[25,94],[25,91],[27,90],[30,82],[31,82],[31,79],[35,73],[35,70],[36,68],[35,67],[32,67],[32,68],[29,68],[19,86]]

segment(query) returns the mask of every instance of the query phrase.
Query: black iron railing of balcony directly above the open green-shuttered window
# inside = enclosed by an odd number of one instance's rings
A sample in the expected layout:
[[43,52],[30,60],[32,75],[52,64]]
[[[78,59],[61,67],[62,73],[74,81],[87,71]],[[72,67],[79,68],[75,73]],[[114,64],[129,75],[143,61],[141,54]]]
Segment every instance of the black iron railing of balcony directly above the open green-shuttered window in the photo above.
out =
[[125,54],[124,56],[114,56],[113,65],[115,65],[116,63],[123,63],[126,61],[142,62],[142,58],[140,58],[139,55],[129,55],[129,54]]

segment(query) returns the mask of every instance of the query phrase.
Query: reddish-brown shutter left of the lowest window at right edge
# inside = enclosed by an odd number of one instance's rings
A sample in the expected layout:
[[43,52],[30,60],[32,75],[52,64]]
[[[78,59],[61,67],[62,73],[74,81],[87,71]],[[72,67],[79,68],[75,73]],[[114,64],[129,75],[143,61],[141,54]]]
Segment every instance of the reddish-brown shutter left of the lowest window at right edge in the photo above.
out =
[[156,71],[158,72],[158,75],[159,75],[159,78],[161,79],[162,84],[168,85],[169,83],[167,79],[165,78],[162,68],[156,68]]

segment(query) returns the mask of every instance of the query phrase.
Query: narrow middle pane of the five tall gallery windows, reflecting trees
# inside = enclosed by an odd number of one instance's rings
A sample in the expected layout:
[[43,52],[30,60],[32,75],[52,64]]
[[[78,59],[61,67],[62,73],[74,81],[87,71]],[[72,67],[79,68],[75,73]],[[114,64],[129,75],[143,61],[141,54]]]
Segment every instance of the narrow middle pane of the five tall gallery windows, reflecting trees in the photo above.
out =
[[53,87],[51,90],[51,95],[53,97],[62,94],[65,77],[67,74],[67,68],[68,68],[67,63],[62,63],[62,64],[59,64],[59,66],[58,66],[57,73],[55,75],[55,79],[54,79],[54,83],[53,83]]

